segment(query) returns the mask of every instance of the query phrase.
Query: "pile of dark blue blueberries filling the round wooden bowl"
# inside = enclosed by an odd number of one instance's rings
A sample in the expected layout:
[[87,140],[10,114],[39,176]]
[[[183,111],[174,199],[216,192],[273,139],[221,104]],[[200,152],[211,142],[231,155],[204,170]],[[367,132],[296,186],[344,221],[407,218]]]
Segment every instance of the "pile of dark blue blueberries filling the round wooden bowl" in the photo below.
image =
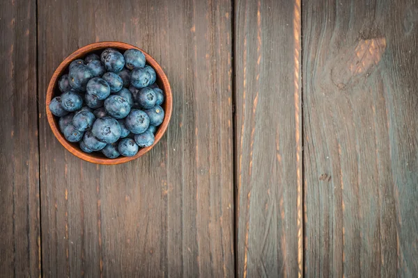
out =
[[164,120],[164,92],[141,51],[104,49],[100,57],[73,60],[68,70],[58,82],[61,96],[49,104],[65,139],[108,158],[153,145]]

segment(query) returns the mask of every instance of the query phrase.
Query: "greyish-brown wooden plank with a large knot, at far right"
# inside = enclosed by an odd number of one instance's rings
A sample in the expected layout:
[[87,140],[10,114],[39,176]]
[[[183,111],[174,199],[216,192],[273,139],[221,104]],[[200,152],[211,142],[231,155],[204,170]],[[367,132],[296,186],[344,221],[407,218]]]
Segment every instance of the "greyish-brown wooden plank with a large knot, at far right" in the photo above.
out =
[[416,276],[417,11],[303,6],[307,277]]

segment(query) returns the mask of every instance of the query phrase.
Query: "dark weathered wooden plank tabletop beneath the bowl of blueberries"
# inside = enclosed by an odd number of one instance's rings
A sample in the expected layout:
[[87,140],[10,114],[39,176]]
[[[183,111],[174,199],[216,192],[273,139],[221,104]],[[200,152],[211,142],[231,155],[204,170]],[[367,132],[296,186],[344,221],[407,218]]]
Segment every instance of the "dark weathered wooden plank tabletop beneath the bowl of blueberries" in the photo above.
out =
[[[1,277],[416,277],[417,0],[1,4]],[[173,117],[131,163],[67,152],[61,60],[137,45]]]

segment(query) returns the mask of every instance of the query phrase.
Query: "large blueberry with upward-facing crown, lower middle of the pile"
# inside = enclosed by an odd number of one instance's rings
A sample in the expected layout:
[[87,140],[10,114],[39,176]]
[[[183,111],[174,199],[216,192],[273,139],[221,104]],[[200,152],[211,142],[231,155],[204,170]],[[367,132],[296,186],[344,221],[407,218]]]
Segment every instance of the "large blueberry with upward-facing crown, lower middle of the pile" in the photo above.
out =
[[95,120],[91,132],[95,138],[109,144],[121,137],[121,126],[113,117],[104,116]]

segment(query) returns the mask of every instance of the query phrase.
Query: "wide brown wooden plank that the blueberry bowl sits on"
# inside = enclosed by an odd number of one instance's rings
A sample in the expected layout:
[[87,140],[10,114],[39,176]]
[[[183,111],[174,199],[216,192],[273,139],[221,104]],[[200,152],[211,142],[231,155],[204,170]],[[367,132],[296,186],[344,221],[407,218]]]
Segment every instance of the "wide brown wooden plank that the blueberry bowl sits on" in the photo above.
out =
[[[40,118],[45,277],[233,277],[230,1],[40,1],[40,111],[61,60],[95,41],[143,48],[173,116],[146,155],[93,165]],[[45,232],[44,232],[45,231]]]

